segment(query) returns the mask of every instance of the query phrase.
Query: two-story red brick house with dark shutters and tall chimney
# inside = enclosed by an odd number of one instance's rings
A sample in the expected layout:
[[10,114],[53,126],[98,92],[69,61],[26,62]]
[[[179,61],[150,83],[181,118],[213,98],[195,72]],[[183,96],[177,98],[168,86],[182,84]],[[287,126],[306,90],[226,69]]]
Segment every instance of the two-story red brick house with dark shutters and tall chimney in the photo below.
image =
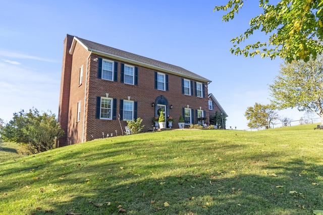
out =
[[137,117],[148,130],[160,108],[175,118],[173,128],[180,115],[186,125],[208,119],[210,82],[179,66],[67,35],[58,114],[65,136],[57,147],[122,135],[126,120]]

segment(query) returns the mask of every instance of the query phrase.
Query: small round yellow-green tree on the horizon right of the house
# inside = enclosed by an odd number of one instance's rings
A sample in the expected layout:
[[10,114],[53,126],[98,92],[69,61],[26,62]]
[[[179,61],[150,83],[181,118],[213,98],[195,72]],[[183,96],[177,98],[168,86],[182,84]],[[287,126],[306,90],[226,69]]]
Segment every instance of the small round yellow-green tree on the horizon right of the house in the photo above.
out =
[[264,126],[266,129],[270,128],[273,120],[278,119],[276,107],[273,104],[262,105],[255,103],[253,107],[248,107],[244,113],[248,122],[248,127],[258,128]]

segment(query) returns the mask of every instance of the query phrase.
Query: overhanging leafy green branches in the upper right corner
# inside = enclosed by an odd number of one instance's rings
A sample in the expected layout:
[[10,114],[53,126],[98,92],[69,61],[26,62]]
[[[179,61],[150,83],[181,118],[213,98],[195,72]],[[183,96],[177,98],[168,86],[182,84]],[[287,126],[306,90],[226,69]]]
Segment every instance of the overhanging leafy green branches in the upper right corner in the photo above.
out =
[[[269,0],[259,0],[259,8],[263,13],[252,18],[250,28],[240,36],[231,39],[234,44],[231,52],[235,55],[253,57],[260,54],[261,57],[276,56],[291,62],[303,59],[305,62],[310,56],[313,58],[323,52],[323,45],[319,41],[323,39],[323,1],[318,0],[281,0],[276,5],[269,4]],[[244,1],[230,0],[226,5],[216,6],[214,11],[229,11],[222,20],[229,22],[238,14]],[[238,47],[253,34],[260,30],[270,34],[267,42],[256,42]]]

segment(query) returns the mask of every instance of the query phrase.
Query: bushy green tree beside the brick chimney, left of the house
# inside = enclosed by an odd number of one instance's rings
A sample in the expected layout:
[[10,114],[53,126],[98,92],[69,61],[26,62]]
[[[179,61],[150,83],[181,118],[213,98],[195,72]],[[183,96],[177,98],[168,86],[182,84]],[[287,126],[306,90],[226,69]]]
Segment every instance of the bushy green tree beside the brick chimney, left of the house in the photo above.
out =
[[33,153],[52,149],[56,138],[63,133],[55,114],[40,114],[37,109],[14,113],[13,119],[1,131],[4,140],[27,144]]

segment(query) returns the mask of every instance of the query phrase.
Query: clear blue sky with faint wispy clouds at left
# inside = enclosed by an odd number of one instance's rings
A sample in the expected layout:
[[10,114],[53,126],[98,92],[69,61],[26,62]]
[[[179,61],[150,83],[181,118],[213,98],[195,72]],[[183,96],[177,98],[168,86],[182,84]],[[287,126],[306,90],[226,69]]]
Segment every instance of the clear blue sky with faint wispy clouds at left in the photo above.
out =
[[[63,40],[75,35],[193,71],[212,82],[229,115],[227,127],[247,128],[244,112],[270,103],[268,84],[282,59],[245,58],[229,52],[261,11],[246,1],[236,18],[222,22],[216,4],[227,1],[3,1],[0,8],[0,118],[32,107],[58,113]],[[247,42],[266,41],[256,33]],[[279,112],[293,120],[303,113]]]

